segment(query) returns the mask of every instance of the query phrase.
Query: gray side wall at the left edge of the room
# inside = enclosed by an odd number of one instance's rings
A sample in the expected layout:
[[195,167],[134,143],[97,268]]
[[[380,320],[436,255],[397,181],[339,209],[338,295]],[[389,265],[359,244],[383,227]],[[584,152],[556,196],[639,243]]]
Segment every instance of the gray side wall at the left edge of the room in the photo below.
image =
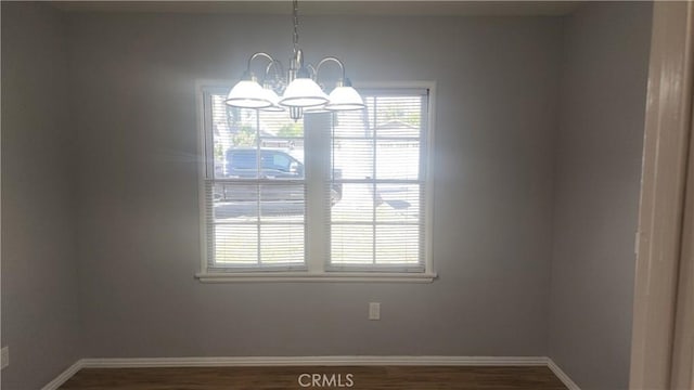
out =
[[59,12],[2,2],[4,389],[37,389],[80,358],[74,127]]

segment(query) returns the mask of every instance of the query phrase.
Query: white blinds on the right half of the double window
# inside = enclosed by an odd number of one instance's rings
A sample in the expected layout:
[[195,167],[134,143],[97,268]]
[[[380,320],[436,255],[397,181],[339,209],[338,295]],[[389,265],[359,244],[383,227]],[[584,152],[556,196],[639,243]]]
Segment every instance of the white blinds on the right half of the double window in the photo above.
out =
[[427,90],[360,91],[367,109],[335,114],[329,269],[425,268]]

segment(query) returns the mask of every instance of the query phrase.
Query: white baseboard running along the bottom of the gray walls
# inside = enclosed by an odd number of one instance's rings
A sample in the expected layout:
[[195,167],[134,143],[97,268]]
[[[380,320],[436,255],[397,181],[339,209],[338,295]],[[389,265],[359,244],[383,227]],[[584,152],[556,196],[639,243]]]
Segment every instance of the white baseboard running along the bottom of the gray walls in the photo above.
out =
[[545,356],[228,356],[87,358],[77,361],[41,390],[56,390],[81,368],[248,367],[248,366],[547,366],[568,388],[578,386]]

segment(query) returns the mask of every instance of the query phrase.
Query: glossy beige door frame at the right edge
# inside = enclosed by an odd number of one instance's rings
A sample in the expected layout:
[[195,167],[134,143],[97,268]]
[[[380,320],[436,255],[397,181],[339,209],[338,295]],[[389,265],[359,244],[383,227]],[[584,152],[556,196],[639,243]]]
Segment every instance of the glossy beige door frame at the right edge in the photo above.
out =
[[693,21],[691,1],[653,3],[630,389],[694,389],[693,244],[682,236],[694,234]]

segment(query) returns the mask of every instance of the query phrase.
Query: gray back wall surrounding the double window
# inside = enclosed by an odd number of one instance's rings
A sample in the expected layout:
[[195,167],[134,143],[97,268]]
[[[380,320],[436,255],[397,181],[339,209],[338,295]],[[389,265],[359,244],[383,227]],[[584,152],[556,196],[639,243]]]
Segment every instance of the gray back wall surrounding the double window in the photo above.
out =
[[[305,17],[309,60],[436,80],[434,284],[201,284],[196,79],[286,16],[74,14],[88,356],[545,355],[561,20]],[[369,301],[382,321],[367,320]]]

